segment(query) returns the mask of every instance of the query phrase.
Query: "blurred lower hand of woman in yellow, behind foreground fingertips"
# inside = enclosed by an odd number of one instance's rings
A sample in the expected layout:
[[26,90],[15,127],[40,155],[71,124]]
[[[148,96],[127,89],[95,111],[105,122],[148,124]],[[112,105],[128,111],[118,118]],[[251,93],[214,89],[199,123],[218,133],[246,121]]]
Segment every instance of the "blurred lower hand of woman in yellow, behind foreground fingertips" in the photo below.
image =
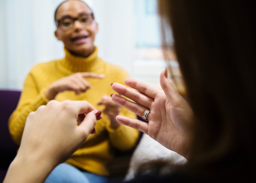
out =
[[102,111],[106,114],[110,120],[110,127],[117,128],[120,124],[116,121],[114,116],[119,115],[121,107],[112,101],[110,96],[104,95],[98,105],[105,105],[105,109]]

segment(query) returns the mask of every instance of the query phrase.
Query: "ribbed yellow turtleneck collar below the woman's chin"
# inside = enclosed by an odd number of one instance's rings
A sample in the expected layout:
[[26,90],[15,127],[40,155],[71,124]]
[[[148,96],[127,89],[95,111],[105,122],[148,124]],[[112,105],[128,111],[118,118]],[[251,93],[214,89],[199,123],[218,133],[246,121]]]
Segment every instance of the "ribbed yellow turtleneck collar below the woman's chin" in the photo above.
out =
[[102,66],[103,61],[98,57],[98,48],[94,46],[94,51],[88,57],[79,57],[72,55],[67,48],[64,47],[66,56],[63,64],[73,72],[93,72]]

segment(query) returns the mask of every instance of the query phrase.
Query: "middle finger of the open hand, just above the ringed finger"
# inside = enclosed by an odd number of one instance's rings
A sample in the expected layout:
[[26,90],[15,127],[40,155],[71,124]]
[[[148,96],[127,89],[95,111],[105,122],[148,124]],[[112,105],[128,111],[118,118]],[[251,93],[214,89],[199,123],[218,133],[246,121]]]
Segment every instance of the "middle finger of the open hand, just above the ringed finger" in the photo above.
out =
[[[134,80],[134,81],[136,81],[136,80]],[[129,83],[129,84],[131,84],[131,83]],[[119,93],[119,94],[121,94],[121,95],[133,100],[134,102],[137,102],[140,105],[145,106],[147,108],[150,107],[151,103],[154,101],[154,98],[151,98],[147,95],[144,95],[141,92],[138,92],[136,90],[128,88],[128,87],[126,87],[124,85],[121,85],[119,83],[113,83],[112,84],[112,89],[114,91],[116,91],[117,93]]]

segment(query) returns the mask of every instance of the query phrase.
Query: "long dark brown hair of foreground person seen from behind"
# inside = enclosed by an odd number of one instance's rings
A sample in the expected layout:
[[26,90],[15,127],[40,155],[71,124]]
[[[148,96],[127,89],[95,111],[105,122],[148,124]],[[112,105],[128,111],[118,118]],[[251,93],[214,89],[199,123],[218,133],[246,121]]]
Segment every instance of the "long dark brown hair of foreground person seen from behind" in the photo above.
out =
[[189,162],[206,177],[250,179],[256,170],[255,8],[243,0],[159,0],[163,48],[171,25],[196,116]]

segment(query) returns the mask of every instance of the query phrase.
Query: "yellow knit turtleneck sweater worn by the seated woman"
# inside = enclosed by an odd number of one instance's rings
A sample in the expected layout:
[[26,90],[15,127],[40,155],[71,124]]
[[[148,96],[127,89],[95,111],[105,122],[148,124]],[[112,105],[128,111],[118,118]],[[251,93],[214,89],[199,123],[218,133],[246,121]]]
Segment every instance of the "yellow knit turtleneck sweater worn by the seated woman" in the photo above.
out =
[[[124,84],[124,79],[129,77],[124,69],[99,58],[97,47],[87,58],[73,56],[66,49],[64,50],[66,53],[64,58],[37,64],[27,75],[18,106],[9,119],[9,130],[17,144],[20,144],[28,114],[49,102],[44,93],[54,81],[76,72],[105,74],[103,79],[87,78],[92,88],[85,93],[76,95],[73,91],[64,91],[55,97],[58,101],[86,100],[95,108],[102,110],[104,106],[97,105],[101,97],[115,93],[110,83]],[[136,118],[134,113],[125,108],[122,108],[120,114]],[[67,163],[92,173],[108,175],[105,165],[113,158],[114,149],[125,151],[133,148],[139,132],[121,124],[116,129],[112,129],[107,116],[102,114],[102,117],[103,119],[96,123],[96,134],[89,135],[85,143],[67,160]]]

